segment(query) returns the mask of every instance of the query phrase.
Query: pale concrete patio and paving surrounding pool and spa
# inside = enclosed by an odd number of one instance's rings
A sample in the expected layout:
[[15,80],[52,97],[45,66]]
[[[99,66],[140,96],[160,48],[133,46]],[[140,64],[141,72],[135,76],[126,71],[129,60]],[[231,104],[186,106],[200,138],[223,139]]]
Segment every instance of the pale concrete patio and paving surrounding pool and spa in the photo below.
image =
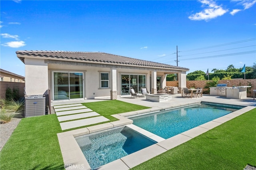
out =
[[[80,128],[76,130],[70,130],[67,132],[58,133],[58,140],[60,144],[60,149],[63,156],[63,161],[65,164],[66,169],[71,169],[74,167],[80,167],[79,169],[88,169],[90,170],[90,166],[84,157],[84,154],[82,153],[80,147],[78,146],[76,140],[74,137],[81,136],[83,134],[89,134],[92,132],[97,132],[101,130],[106,130],[112,127],[120,127],[123,125],[127,125],[128,127],[133,128],[134,130],[137,130],[138,132],[141,132],[145,136],[148,136],[149,138],[152,138],[153,140],[156,140],[158,143],[153,144],[147,148],[144,148],[142,150],[139,150],[137,152],[134,152],[132,154],[129,154],[127,156],[124,156],[123,158],[120,158],[118,160],[115,160],[113,162],[110,162],[108,164],[105,164],[101,167],[99,167],[99,170],[128,170],[130,168],[133,168],[134,166],[137,166],[138,164],[141,164],[142,162],[145,162],[146,160],[149,160],[159,154],[162,154],[166,152],[167,150],[170,150],[214,127],[217,127],[221,125],[222,123],[225,123],[239,115],[242,115],[243,113],[246,113],[247,111],[250,111],[256,107],[256,101],[253,101],[252,98],[246,98],[246,99],[226,99],[224,97],[216,97],[216,96],[209,96],[209,95],[203,95],[203,97],[200,98],[182,98],[180,94],[172,95],[172,100],[162,103],[157,102],[150,102],[146,101],[145,97],[139,97],[139,98],[130,98],[130,96],[122,96],[118,97],[118,100],[125,101],[128,103],[133,103],[137,105],[143,105],[152,107],[151,109],[145,109],[142,111],[134,111],[129,113],[121,113],[117,115],[113,115],[114,117],[118,118],[119,121],[114,121],[110,123],[104,123],[96,126],[86,127],[86,128]],[[94,102],[94,101],[104,101],[109,100],[106,99],[91,99],[91,100],[74,100],[74,101],[60,101],[60,102],[52,102],[52,105],[65,105],[65,104],[76,104],[76,103],[86,103],[86,102]],[[126,116],[130,115],[137,115],[140,113],[146,113],[146,112],[152,112],[152,111],[160,111],[164,109],[170,109],[175,107],[181,107],[186,105],[191,105],[195,103],[200,103],[201,101],[205,102],[214,102],[214,103],[222,103],[222,104],[232,104],[232,105],[243,105],[246,106],[238,111],[232,112],[228,115],[225,115],[223,117],[220,117],[218,119],[214,119],[208,123],[205,123],[203,125],[200,125],[198,127],[192,128],[190,130],[187,130],[185,132],[182,132],[181,134],[178,134],[176,136],[173,136],[171,138],[168,138],[164,140],[163,138],[156,136],[152,134],[151,132],[148,132],[144,129],[141,129],[139,127],[136,127],[135,125],[132,125],[132,120],[127,119]],[[60,104],[61,103],[61,104]],[[138,159],[140,158],[140,159]]]

